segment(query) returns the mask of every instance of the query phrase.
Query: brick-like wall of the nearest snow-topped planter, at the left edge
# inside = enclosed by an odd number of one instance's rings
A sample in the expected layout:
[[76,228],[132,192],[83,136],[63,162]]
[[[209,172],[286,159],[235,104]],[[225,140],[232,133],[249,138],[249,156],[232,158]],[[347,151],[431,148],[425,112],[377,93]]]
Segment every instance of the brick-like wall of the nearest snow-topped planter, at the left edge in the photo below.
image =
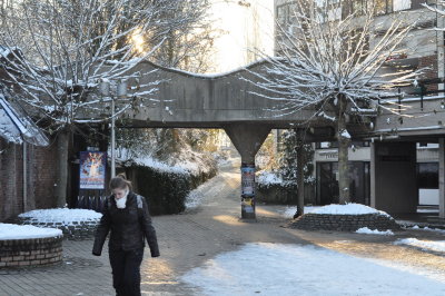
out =
[[63,236],[0,240],[0,268],[61,262]]

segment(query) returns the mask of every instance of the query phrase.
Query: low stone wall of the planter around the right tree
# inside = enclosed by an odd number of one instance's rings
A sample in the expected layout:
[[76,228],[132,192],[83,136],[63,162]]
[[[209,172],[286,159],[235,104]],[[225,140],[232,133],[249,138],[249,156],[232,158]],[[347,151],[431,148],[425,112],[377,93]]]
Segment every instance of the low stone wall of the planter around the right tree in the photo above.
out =
[[378,214],[327,215],[306,214],[290,224],[291,228],[304,230],[356,231],[359,228],[399,230],[400,226],[392,218]]

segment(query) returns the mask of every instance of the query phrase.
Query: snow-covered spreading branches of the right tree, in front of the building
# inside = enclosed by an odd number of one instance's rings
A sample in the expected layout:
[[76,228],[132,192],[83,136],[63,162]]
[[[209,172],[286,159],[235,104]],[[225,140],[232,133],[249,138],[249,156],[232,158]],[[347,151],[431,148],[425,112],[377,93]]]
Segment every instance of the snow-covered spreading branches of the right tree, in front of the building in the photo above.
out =
[[[289,16],[278,16],[284,20],[277,22],[278,57],[265,56],[268,66],[244,78],[258,88],[255,93],[275,101],[277,116],[308,109],[317,114],[314,119],[337,114],[339,98],[346,112],[369,110],[418,76],[419,70],[388,62],[407,50],[403,40],[415,22],[406,13],[380,23],[373,6],[346,13],[344,2],[291,1]],[[383,108],[399,111],[398,106]]]

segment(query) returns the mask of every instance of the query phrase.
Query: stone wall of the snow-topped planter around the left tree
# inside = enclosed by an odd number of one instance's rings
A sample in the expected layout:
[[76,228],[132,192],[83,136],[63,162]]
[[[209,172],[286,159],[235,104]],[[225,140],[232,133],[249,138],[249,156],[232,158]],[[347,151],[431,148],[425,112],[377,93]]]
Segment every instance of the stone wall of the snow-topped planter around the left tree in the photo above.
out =
[[72,225],[62,225],[61,223],[37,223],[30,219],[22,219],[20,224],[44,228],[58,228],[62,230],[63,237],[66,239],[85,240],[93,238],[99,221],[100,219],[88,221],[73,221]]

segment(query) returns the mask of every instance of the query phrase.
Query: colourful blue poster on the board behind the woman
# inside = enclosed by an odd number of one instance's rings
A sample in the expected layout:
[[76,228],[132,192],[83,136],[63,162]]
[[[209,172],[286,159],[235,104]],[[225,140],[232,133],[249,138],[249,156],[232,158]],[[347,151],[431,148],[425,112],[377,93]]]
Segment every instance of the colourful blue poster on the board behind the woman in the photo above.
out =
[[107,152],[80,152],[79,189],[105,189]]

